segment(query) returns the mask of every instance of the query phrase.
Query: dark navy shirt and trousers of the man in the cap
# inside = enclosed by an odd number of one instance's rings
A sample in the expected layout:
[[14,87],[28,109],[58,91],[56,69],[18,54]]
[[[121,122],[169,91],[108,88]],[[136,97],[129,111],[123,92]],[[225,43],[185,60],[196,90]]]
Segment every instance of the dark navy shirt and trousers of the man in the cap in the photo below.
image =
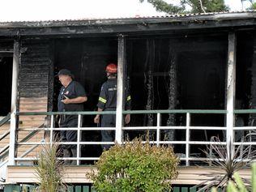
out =
[[[78,96],[86,96],[83,86],[76,82],[71,81],[67,87],[62,86],[58,95],[58,111],[83,111],[83,103],[80,104],[64,104],[61,100],[65,100],[65,96],[69,99],[74,99]],[[78,115],[61,115],[61,127],[77,127]],[[61,130],[62,141],[74,142],[77,138],[76,130]],[[65,145],[65,147],[70,147]]]

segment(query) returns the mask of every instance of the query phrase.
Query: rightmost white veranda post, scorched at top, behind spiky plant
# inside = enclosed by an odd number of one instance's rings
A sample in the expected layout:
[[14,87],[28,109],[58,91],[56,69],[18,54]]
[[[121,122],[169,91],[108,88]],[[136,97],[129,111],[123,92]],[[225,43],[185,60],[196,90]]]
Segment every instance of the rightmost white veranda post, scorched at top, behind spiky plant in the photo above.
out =
[[[228,75],[227,75],[227,117],[226,117],[226,141],[228,154],[233,155],[233,151],[229,151],[233,145],[233,126],[235,124],[234,108],[236,101],[236,34],[230,32],[228,35]],[[231,145],[231,146],[230,146]]]

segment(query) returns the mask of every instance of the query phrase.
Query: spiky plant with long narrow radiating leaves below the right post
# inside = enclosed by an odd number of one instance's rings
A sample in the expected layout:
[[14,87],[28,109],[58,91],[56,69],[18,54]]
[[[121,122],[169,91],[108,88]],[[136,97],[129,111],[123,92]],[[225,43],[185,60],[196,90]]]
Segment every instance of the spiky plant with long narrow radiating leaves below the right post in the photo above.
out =
[[[236,149],[231,143],[228,144],[228,147],[220,144],[220,139],[217,137],[214,137],[213,141],[215,143],[207,147],[207,151],[204,151],[204,153],[210,158],[212,164],[211,169],[214,170],[210,173],[202,174],[208,177],[208,179],[198,185],[198,187],[202,187],[198,192],[211,191],[213,186],[225,191],[228,181],[233,181],[237,185],[234,179],[234,173],[245,167],[249,167],[251,161],[255,159],[255,151],[250,150],[251,146],[247,146],[244,149],[243,144],[241,144]],[[208,161],[206,162],[209,163]],[[245,185],[250,183],[245,178],[241,178],[241,180]]]

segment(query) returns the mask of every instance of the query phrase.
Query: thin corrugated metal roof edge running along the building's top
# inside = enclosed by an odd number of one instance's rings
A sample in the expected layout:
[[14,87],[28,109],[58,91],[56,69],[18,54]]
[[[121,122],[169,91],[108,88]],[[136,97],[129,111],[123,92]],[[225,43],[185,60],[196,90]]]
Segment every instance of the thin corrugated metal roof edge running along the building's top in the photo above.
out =
[[113,20],[113,19],[164,19],[164,18],[190,18],[211,15],[239,15],[242,13],[256,13],[256,11],[225,11],[225,12],[209,12],[209,13],[191,13],[182,15],[135,15],[130,17],[105,17],[105,18],[78,18],[78,19],[50,19],[50,20],[32,20],[32,21],[1,21],[0,23],[58,23],[58,22],[73,22],[73,21],[86,21],[86,20]]

